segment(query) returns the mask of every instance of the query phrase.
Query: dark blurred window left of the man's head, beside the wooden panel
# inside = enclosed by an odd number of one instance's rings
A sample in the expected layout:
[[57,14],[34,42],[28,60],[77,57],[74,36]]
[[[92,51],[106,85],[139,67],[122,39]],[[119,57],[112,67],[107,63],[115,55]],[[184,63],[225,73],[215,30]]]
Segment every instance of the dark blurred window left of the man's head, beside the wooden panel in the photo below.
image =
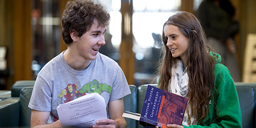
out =
[[31,1],[32,67],[39,70],[60,51],[60,12],[58,1]]

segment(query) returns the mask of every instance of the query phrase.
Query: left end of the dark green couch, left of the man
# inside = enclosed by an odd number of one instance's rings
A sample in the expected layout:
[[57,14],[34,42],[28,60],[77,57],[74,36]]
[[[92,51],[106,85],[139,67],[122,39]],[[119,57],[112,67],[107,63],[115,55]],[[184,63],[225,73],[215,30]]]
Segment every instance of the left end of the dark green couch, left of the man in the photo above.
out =
[[21,80],[13,84],[10,98],[0,101],[0,127],[30,126],[28,102],[34,83],[34,80]]

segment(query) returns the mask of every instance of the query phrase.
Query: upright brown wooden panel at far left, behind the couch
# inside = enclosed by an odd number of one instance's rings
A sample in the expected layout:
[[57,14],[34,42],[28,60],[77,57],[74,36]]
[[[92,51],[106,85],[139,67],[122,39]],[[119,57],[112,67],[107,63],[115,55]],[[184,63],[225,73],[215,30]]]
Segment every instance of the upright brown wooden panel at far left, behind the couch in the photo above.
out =
[[31,0],[13,0],[13,82],[32,77],[30,13]]

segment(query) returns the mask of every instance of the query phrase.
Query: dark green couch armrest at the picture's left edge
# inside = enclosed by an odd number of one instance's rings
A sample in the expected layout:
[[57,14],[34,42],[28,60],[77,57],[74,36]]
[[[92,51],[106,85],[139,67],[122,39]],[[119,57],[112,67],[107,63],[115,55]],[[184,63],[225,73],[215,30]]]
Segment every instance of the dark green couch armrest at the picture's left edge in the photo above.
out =
[[11,97],[0,101],[0,127],[18,127],[19,98]]

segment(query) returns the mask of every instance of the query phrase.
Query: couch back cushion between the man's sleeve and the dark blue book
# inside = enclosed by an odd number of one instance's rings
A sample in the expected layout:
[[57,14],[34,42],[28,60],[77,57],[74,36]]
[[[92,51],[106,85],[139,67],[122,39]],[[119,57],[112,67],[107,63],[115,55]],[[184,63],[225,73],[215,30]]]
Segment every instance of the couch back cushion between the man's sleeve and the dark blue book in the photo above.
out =
[[[134,85],[129,85],[131,94],[123,97],[124,111],[137,113],[137,88]],[[127,128],[136,127],[137,120],[125,118]]]

